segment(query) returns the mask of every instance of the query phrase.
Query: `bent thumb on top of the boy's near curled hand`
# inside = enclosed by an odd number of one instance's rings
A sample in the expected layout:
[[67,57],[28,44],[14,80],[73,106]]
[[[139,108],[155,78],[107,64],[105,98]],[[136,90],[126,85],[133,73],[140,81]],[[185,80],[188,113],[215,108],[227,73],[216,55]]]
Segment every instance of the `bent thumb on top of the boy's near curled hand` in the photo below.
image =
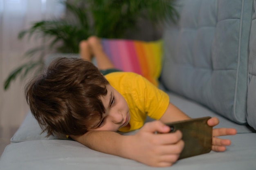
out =
[[155,132],[168,133],[170,132],[170,130],[171,129],[169,126],[166,126],[164,123],[158,120],[148,122],[141,128],[141,131],[151,132],[151,133],[155,133]]

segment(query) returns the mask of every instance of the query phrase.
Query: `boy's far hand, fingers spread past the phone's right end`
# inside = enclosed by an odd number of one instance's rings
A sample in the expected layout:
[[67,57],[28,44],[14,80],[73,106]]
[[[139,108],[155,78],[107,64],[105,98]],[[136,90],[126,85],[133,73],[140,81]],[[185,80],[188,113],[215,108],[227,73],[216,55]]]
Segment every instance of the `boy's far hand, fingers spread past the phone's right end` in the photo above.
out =
[[[209,126],[216,126],[219,124],[219,119],[213,117],[207,121]],[[211,150],[216,152],[223,152],[226,150],[226,146],[231,144],[229,139],[220,139],[218,136],[225,136],[225,135],[236,135],[236,129],[234,128],[216,128],[213,129],[213,139],[212,139],[212,146]]]

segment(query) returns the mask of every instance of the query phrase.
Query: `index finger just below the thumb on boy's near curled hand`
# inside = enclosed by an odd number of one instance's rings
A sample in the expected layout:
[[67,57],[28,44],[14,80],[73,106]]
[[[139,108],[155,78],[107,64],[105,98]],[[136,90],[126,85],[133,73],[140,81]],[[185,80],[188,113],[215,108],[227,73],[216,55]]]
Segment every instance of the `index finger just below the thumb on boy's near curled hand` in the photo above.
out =
[[153,144],[156,145],[170,145],[177,144],[177,142],[181,141],[182,133],[180,130],[177,130],[173,133],[162,133],[162,134],[154,134],[153,136]]

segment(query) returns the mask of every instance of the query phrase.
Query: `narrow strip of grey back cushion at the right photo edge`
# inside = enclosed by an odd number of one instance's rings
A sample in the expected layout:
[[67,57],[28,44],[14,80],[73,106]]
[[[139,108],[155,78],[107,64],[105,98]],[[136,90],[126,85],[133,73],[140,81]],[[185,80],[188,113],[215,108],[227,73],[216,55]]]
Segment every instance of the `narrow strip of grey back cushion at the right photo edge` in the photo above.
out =
[[251,37],[249,42],[249,86],[247,98],[247,121],[256,129],[256,1],[252,18]]

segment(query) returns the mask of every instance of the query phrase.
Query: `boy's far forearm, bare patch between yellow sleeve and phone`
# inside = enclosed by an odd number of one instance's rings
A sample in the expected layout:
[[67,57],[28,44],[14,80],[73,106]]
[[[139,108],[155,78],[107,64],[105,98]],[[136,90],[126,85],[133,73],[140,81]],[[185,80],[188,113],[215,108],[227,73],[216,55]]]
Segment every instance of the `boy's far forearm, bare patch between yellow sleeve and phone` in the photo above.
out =
[[188,115],[183,113],[179,108],[169,103],[164,115],[159,119],[163,123],[173,122],[173,121],[181,121],[191,119]]

